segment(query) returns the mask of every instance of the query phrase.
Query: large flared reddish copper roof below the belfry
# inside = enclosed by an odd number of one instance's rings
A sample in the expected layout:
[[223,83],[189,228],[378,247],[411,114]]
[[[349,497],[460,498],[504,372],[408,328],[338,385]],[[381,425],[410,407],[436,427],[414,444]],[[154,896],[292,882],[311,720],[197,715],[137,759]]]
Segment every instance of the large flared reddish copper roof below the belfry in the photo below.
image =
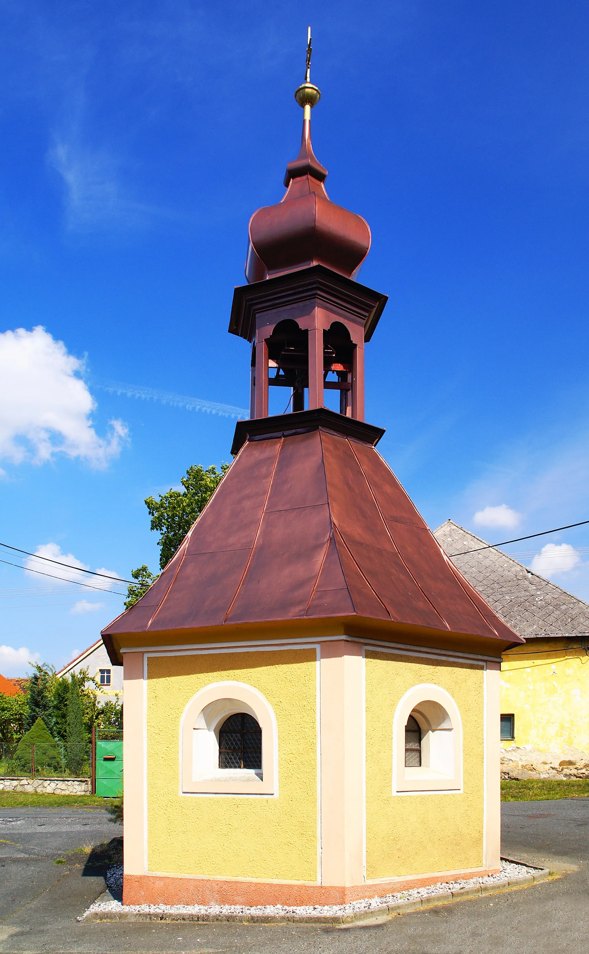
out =
[[276,420],[243,444],[150,590],[103,631],[110,653],[123,633],[335,616],[500,649],[520,641],[437,544],[377,453],[377,428],[335,433],[321,411]]

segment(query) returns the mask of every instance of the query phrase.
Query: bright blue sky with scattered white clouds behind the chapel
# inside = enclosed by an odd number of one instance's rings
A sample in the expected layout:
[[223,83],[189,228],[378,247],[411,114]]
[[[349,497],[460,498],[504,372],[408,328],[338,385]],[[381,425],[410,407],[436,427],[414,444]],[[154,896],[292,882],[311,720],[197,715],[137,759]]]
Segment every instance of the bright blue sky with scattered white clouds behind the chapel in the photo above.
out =
[[[234,418],[158,395],[247,407],[227,325],[298,151],[308,10],[0,0],[2,542],[155,570],[143,499],[230,459]],[[432,528],[589,518],[587,5],[319,3],[312,26],[315,154],[389,295],[379,449]],[[508,550],[589,598],[587,529]],[[72,579],[0,564],[0,672],[62,665],[119,612]]]

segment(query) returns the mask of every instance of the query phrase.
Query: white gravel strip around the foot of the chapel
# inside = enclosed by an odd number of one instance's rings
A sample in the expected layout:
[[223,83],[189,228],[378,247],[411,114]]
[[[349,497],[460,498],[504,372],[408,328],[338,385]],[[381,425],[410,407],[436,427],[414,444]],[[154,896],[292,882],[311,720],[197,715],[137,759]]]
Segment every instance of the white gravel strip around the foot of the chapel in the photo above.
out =
[[[412,888],[382,897],[365,898],[348,904],[314,904],[289,907],[283,904],[121,904],[118,901],[95,901],[78,921],[236,921],[298,923],[346,923],[376,918],[402,911],[415,910],[429,904],[472,898],[490,891],[544,881],[546,868],[535,868],[518,861],[501,860],[501,871],[485,878],[459,879]],[[123,886],[123,865],[115,864],[107,872],[107,885],[112,891]]]

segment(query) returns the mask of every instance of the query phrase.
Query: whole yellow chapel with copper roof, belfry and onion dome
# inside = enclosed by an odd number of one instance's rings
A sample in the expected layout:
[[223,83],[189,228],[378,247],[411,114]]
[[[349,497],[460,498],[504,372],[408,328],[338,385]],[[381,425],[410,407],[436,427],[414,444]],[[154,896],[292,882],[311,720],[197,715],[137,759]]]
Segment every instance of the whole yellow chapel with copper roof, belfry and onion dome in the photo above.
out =
[[357,280],[368,225],[325,191],[310,53],[300,152],[234,291],[251,417],[170,563],[102,633],[124,665],[126,904],[340,904],[499,869],[500,661],[523,640],[364,421],[387,300]]

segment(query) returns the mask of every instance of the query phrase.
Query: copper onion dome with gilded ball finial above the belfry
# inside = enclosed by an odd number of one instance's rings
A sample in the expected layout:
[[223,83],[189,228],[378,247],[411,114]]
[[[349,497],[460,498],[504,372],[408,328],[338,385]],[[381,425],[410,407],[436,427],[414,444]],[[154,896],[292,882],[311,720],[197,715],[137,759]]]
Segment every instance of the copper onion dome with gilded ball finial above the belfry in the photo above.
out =
[[300,153],[286,167],[286,194],[276,205],[254,212],[246,279],[252,283],[311,265],[325,265],[355,279],[370,249],[370,228],[361,216],[335,205],[325,191],[327,169],[311,145],[311,110],[321,93],[307,76],[294,93],[303,108]]

